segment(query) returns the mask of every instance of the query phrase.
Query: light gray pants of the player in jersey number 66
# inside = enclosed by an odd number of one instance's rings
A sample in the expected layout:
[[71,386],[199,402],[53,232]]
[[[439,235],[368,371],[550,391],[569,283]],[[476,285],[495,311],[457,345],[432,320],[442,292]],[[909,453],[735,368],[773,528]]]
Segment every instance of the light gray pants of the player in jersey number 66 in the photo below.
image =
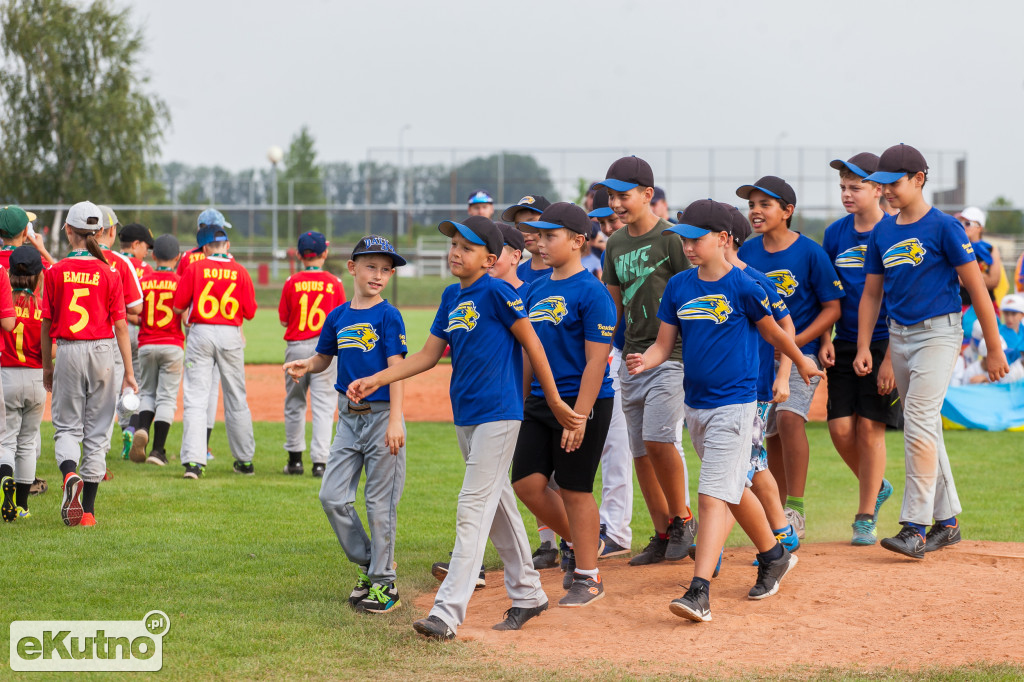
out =
[[216,385],[214,372],[220,375],[224,391],[224,425],[231,456],[239,462],[252,462],[256,452],[253,418],[246,401],[242,329],[197,324],[188,333],[185,347],[181,464],[206,465],[207,413],[210,393]]

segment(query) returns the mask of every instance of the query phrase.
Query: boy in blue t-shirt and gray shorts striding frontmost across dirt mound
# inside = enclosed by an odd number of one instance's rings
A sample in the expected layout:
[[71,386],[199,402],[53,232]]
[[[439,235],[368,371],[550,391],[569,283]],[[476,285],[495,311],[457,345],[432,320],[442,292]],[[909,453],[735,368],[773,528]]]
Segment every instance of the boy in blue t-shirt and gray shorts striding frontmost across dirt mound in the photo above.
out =
[[683,238],[686,257],[697,267],[669,281],[657,311],[657,340],[643,354],[627,355],[626,364],[634,375],[657,367],[670,356],[677,337],[682,338],[686,425],[700,458],[700,530],[693,581],[670,610],[701,622],[711,621],[711,579],[732,525],[730,512],[758,549],[751,599],[775,594],[797,564],[797,556],[775,537],[764,508],[746,488],[757,412],[758,332],[794,361],[805,382],[822,373],[772,319],[761,286],[729,263],[728,209],[707,199],[693,202],[679,217],[680,223],[666,231]]

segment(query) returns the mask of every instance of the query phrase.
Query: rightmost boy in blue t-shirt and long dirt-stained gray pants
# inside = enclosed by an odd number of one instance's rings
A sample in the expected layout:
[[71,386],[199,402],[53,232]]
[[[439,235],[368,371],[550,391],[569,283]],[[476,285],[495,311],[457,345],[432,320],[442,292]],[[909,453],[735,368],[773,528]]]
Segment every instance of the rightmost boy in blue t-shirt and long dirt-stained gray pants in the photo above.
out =
[[889,353],[903,401],[906,485],[900,511],[903,527],[881,544],[923,559],[925,552],[961,541],[956,515],[962,508],[940,414],[964,337],[959,282],[971,294],[989,348],[989,379],[998,381],[1009,367],[995,311],[964,226],[925,200],[925,157],[907,144],[891,146],[879,159],[878,171],[864,179],[883,185],[886,200],[899,214],[879,222],[867,240],[853,368],[860,376],[873,369],[871,338],[884,297]]

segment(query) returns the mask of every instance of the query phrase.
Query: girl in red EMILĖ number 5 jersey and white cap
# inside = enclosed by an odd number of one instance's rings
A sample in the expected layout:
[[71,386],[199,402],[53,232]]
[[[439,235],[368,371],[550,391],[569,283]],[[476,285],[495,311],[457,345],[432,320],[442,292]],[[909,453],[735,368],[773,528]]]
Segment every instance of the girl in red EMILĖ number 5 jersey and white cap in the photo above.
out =
[[[138,391],[121,279],[96,242],[102,218],[91,202],[72,206],[63,229],[73,250],[43,274],[43,386],[53,395],[53,450],[63,477],[66,525],[96,524],[96,492],[106,471],[118,392]],[[55,364],[53,342],[59,348]],[[125,368],[120,386],[115,354]]]

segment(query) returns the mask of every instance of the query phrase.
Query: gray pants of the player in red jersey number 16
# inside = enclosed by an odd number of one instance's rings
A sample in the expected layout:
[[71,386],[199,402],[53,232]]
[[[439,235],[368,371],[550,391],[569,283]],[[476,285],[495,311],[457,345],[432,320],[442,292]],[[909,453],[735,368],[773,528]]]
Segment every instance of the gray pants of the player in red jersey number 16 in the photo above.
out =
[[[289,341],[285,349],[285,361],[305,359],[316,354],[316,337],[303,341]],[[306,374],[298,381],[285,375],[285,451],[302,453],[306,450],[306,391],[313,408],[313,437],[309,443],[309,459],[314,464],[328,461],[331,444],[331,427],[334,425],[334,408],[338,391],[334,381],[338,376],[338,358],[331,358],[331,365],[319,374]],[[340,410],[347,409],[342,401]],[[381,442],[384,436],[381,436]]]

